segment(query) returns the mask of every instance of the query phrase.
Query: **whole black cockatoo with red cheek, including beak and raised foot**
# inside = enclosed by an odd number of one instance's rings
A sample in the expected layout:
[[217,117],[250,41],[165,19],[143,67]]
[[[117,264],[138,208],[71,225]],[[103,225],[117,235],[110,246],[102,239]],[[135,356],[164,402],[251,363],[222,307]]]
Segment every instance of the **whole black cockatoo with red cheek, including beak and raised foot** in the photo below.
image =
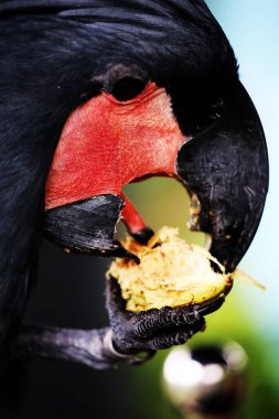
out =
[[[22,325],[40,239],[127,256],[120,215],[152,230],[125,184],[175,176],[193,229],[232,271],[259,223],[265,136],[234,52],[203,0],[3,0],[0,3],[0,347],[103,367],[185,342],[223,302],[132,314],[111,280],[111,329]],[[131,255],[128,255],[131,257]],[[10,354],[10,355],[9,355]],[[11,355],[12,354],[12,355]]]

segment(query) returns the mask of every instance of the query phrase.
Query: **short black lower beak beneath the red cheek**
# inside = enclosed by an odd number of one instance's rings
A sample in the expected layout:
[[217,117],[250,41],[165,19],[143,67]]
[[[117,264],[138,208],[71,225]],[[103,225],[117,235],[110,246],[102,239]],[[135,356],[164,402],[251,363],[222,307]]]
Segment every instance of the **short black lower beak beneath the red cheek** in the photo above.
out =
[[67,251],[136,258],[115,239],[124,205],[121,196],[105,194],[49,210],[44,236]]

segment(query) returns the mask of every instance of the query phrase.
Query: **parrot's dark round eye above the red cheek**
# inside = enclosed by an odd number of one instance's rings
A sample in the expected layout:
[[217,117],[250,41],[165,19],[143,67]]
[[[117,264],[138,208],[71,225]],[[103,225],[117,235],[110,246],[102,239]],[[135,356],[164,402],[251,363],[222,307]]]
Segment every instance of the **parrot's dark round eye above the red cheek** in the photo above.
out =
[[146,87],[146,82],[138,77],[126,76],[119,78],[112,89],[112,96],[120,101],[126,101],[137,97]]

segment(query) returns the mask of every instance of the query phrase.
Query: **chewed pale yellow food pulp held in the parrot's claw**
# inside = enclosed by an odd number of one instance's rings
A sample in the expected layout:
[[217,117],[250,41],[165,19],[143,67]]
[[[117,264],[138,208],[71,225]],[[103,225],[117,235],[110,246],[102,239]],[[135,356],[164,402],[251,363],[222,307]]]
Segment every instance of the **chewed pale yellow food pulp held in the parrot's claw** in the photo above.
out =
[[[127,310],[138,312],[162,307],[203,303],[227,293],[232,287],[230,273],[208,251],[187,245],[179,230],[162,227],[148,243],[139,245],[128,237],[122,246],[138,256],[140,264],[117,258],[107,277],[116,278],[121,287]],[[211,267],[218,265],[221,273]]]

